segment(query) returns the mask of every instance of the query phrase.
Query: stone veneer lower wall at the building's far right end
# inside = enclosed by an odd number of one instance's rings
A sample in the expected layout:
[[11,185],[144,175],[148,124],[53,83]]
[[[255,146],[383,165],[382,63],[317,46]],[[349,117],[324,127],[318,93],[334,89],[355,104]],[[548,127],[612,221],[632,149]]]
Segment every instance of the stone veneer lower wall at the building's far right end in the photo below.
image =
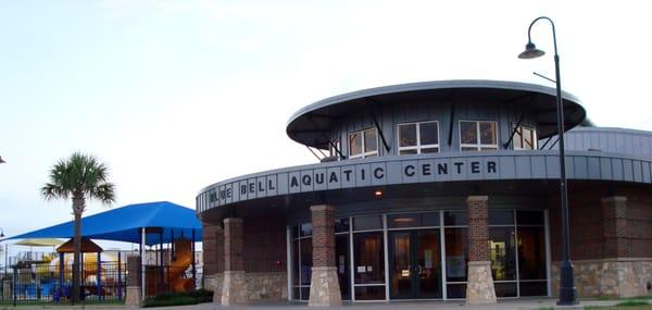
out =
[[[552,262],[552,295],[559,295],[560,262]],[[573,261],[579,297],[634,297],[652,294],[652,258]]]

